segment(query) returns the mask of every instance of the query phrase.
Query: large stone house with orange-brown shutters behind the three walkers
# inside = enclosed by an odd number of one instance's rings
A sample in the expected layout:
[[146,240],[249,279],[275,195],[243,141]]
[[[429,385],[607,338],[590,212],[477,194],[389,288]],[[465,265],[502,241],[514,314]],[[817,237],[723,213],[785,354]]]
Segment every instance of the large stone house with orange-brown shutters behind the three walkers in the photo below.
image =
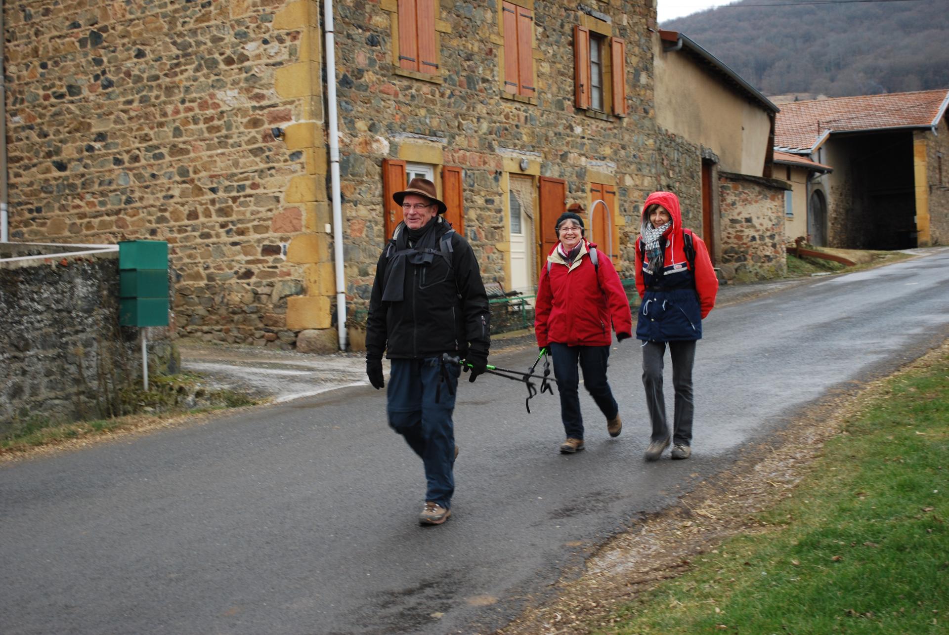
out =
[[[167,240],[178,334],[335,348],[322,9],[5,6],[12,239]],[[654,0],[344,0],[334,19],[354,332],[414,175],[505,289],[536,284],[570,205],[623,277],[649,192],[700,209],[700,149],[655,119]]]

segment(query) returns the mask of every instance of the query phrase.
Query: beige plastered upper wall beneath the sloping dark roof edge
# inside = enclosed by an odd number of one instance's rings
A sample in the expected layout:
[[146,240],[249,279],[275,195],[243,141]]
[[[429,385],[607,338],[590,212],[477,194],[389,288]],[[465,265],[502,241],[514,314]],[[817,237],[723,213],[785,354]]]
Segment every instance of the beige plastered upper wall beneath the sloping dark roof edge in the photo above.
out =
[[710,148],[727,172],[763,176],[768,113],[694,63],[664,52],[655,36],[656,121],[669,132]]

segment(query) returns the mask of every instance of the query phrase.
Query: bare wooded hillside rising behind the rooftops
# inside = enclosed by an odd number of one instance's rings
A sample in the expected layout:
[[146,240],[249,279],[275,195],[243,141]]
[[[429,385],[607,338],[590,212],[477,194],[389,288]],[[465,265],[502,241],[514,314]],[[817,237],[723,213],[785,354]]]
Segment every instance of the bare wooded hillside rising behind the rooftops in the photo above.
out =
[[761,6],[793,1],[741,0],[661,28],[684,33],[766,95],[949,87],[946,0]]

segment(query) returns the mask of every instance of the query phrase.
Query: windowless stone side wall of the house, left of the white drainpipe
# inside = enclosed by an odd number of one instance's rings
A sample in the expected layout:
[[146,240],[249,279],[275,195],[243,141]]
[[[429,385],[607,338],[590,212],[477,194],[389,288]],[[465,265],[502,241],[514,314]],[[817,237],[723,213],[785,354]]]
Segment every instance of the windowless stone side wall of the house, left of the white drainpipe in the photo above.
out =
[[11,238],[166,240],[182,335],[291,346],[288,296],[319,260],[307,245],[294,260],[291,242],[326,200],[324,142],[319,124],[303,131],[317,140],[270,130],[322,120],[300,81],[319,57],[310,9],[5,4]]

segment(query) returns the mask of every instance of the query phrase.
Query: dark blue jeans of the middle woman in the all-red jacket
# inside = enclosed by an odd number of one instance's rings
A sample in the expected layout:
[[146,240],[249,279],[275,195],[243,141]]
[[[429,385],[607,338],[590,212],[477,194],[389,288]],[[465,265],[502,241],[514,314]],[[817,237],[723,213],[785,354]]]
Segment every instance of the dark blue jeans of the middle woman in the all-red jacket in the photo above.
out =
[[560,419],[564,422],[568,437],[584,438],[584,418],[580,414],[580,395],[577,391],[580,383],[577,362],[584,371],[586,392],[600,407],[606,419],[613,419],[619,414],[620,406],[613,399],[613,391],[606,381],[609,346],[567,346],[551,343],[550,354],[553,357],[557,390],[560,391]]

